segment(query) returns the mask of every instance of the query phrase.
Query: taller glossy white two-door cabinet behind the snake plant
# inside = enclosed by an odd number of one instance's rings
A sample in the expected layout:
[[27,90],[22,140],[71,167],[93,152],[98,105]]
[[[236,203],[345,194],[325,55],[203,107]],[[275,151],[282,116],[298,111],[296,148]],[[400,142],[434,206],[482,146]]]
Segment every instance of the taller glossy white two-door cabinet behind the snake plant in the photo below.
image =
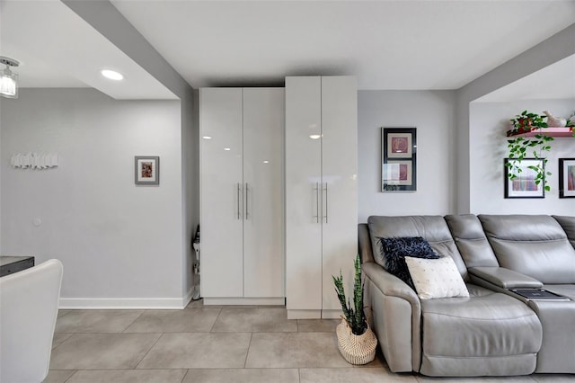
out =
[[339,317],[332,275],[353,284],[358,252],[357,85],[286,77],[288,317]]

